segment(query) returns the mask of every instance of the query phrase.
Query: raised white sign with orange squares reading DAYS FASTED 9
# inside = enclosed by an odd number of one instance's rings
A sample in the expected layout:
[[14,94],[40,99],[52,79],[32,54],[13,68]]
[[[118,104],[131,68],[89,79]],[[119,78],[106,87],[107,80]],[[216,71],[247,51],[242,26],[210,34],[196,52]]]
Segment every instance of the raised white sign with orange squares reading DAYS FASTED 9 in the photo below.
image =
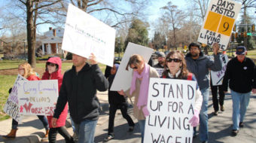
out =
[[198,41],[208,45],[217,42],[221,49],[227,49],[241,6],[241,4],[230,0],[212,0],[206,12]]

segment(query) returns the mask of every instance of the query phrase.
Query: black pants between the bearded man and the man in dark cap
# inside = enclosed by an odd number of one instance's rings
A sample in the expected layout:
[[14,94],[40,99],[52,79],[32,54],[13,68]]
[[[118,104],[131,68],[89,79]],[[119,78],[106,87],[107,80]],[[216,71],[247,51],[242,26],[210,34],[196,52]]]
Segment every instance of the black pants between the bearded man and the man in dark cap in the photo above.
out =
[[[212,90],[213,108],[215,109],[215,111],[218,111],[219,109],[218,104],[220,104],[221,106],[224,105],[224,98],[225,98],[224,89],[222,85],[212,86],[212,82],[211,82],[211,90]],[[218,99],[218,94],[219,94],[219,99]]]

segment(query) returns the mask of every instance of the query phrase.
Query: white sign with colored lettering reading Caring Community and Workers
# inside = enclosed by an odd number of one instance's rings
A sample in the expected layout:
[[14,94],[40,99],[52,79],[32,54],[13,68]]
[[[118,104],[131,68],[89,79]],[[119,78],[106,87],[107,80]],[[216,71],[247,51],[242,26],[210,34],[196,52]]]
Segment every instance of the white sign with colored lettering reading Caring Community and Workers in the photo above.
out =
[[18,82],[20,114],[53,116],[59,95],[57,80]]

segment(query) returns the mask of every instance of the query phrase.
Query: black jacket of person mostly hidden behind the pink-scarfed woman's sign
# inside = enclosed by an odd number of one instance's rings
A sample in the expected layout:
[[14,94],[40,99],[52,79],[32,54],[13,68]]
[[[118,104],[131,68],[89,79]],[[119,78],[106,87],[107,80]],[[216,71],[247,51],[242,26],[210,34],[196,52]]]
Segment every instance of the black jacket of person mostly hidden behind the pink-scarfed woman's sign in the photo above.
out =
[[127,100],[126,100],[125,97],[123,97],[122,95],[117,93],[117,91],[111,91],[110,90],[110,87],[111,87],[111,85],[114,81],[114,77],[115,77],[115,75],[109,75],[108,76],[108,82],[109,82],[108,102],[109,102],[109,104],[120,105],[120,104],[126,103]]

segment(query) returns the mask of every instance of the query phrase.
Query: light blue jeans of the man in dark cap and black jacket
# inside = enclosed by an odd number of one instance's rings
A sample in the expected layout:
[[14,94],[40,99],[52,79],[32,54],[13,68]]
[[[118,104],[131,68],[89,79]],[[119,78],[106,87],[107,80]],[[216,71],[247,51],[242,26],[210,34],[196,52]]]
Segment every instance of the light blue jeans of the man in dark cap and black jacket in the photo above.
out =
[[231,90],[232,102],[233,102],[233,129],[239,129],[239,122],[242,122],[245,117],[245,113],[250,101],[249,93],[236,93],[235,91]]

